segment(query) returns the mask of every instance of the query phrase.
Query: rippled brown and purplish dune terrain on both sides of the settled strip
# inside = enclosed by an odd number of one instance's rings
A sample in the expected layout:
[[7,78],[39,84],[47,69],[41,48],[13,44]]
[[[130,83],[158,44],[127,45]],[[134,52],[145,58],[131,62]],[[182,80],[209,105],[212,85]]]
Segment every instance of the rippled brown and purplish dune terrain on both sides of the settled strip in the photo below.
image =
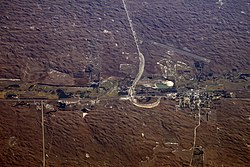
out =
[[[247,0],[225,0],[223,5],[214,0],[126,3],[145,56],[145,74],[159,74],[157,62],[167,56],[168,50],[152,41],[210,59],[208,70],[215,73],[250,70]],[[102,78],[126,76],[120,64],[138,70],[121,0],[0,4],[0,78],[74,85],[74,75],[90,63],[101,70]],[[80,111],[45,110],[46,166],[189,166],[198,120],[190,111],[176,111],[175,105],[162,100],[156,108],[142,109],[128,101],[106,100],[84,118]],[[249,166],[249,99],[221,100],[209,117],[202,117],[197,129],[203,166]],[[42,166],[42,136],[41,110],[34,102],[0,102],[0,166]]]

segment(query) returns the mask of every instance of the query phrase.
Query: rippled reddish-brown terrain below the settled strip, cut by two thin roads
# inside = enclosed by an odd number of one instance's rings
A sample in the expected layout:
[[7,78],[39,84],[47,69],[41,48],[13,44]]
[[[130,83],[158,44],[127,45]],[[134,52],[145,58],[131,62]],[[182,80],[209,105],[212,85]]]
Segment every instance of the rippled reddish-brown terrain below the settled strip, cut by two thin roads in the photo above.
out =
[[[205,150],[204,166],[246,167],[250,103],[221,103],[197,130],[197,145]],[[1,166],[41,166],[41,112],[32,103],[13,106],[1,103]],[[46,166],[189,166],[198,124],[169,101],[150,110],[103,101],[84,118],[77,111],[45,111],[44,119]]]

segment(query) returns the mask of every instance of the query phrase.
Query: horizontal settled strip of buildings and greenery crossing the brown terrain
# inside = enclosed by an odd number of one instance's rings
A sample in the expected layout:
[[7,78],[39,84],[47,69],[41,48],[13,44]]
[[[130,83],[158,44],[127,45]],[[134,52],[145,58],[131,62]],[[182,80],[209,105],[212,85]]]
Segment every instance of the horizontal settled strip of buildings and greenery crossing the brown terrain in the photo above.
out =
[[[135,97],[140,103],[150,103],[157,97],[176,101],[177,109],[213,108],[213,102],[221,98],[247,98],[250,74],[236,69],[214,75],[203,71],[204,62],[196,61],[193,67],[183,62],[166,61],[162,75],[143,77],[135,88]],[[172,65],[171,65],[172,64]],[[134,78],[109,77],[101,80],[100,71],[92,64],[84,72],[74,74],[80,78],[79,86],[24,83],[21,80],[0,80],[0,100],[17,101],[18,105],[29,101],[44,100],[51,111],[77,110],[89,112],[100,100],[128,99],[129,88]],[[234,89],[232,89],[234,88]],[[86,105],[87,104],[87,105]]]

